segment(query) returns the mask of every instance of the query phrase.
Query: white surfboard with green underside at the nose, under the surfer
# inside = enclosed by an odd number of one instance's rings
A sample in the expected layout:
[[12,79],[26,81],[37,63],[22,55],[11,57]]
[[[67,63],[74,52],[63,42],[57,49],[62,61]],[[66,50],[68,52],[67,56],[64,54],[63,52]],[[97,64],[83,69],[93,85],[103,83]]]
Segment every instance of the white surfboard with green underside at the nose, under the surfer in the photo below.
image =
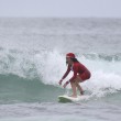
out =
[[63,95],[63,96],[58,96],[58,101],[59,102],[77,102],[77,101],[80,101],[80,100],[87,100],[89,98],[89,96],[77,96],[77,98],[73,98],[73,97],[69,97],[67,95]]

